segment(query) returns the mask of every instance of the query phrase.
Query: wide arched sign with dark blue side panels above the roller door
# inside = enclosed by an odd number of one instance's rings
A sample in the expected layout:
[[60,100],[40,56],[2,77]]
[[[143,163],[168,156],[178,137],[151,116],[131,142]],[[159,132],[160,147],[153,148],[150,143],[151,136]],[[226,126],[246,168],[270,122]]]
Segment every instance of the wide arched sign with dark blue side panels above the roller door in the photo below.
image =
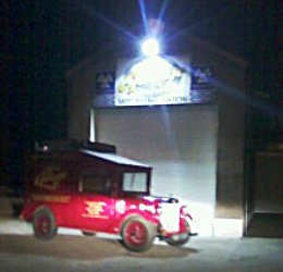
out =
[[95,107],[189,104],[214,102],[213,70],[186,69],[161,57],[120,65],[114,73],[96,75]]

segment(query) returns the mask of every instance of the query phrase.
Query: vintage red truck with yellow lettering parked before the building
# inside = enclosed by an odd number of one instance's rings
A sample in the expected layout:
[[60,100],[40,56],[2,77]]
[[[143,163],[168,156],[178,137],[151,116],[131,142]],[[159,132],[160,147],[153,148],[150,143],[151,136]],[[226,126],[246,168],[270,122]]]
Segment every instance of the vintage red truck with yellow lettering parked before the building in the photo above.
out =
[[21,218],[37,238],[52,238],[58,227],[103,232],[119,235],[132,251],[147,250],[156,237],[173,246],[189,239],[187,207],[150,196],[151,166],[118,156],[113,146],[45,146],[27,169]]

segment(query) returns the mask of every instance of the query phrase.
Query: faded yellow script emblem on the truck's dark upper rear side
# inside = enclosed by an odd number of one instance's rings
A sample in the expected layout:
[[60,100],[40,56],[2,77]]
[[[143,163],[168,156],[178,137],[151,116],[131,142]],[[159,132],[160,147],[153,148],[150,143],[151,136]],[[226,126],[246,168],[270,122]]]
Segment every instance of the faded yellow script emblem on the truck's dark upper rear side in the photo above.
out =
[[66,178],[66,172],[57,166],[46,166],[42,172],[36,176],[35,186],[44,189],[56,190]]

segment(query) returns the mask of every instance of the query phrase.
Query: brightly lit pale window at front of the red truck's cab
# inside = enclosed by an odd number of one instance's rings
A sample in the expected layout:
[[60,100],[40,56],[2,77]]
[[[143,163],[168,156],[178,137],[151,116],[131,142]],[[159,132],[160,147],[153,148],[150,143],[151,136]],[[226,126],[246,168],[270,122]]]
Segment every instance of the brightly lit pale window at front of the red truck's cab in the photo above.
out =
[[123,190],[147,193],[147,173],[124,173]]

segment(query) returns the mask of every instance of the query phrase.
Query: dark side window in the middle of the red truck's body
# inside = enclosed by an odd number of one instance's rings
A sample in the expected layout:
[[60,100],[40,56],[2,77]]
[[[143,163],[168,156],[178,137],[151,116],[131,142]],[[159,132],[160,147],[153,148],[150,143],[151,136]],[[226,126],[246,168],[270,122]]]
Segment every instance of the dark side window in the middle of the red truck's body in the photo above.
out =
[[84,193],[111,194],[111,178],[95,173],[82,173],[79,190]]

